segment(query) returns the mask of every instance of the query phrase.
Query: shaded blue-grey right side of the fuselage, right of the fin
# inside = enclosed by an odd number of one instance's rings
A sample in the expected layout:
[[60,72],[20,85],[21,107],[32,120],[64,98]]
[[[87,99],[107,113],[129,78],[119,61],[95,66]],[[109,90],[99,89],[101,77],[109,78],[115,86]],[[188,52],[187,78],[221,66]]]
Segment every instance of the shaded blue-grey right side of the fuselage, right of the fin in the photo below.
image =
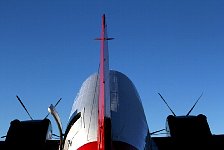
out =
[[138,92],[127,76],[110,71],[112,140],[143,150],[148,125]]

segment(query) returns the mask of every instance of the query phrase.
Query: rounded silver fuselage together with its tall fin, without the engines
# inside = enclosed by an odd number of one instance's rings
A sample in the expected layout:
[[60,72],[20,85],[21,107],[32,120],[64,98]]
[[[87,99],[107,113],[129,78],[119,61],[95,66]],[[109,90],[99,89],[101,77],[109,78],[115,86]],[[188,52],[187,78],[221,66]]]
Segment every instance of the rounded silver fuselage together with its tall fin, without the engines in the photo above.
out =
[[150,135],[137,90],[124,74],[109,70],[111,39],[103,15],[99,72],[87,78],[75,99],[64,150],[148,150]]

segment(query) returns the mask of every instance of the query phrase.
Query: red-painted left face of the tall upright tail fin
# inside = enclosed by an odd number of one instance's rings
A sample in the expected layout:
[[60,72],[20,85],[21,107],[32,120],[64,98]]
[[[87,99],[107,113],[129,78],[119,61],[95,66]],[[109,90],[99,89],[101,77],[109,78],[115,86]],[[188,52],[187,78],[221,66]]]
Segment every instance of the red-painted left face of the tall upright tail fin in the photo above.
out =
[[104,114],[105,114],[105,74],[104,74],[104,42],[105,42],[105,15],[102,16],[102,31],[101,31],[101,49],[100,49],[100,93],[98,101],[98,150],[105,150],[105,125],[104,125]]

